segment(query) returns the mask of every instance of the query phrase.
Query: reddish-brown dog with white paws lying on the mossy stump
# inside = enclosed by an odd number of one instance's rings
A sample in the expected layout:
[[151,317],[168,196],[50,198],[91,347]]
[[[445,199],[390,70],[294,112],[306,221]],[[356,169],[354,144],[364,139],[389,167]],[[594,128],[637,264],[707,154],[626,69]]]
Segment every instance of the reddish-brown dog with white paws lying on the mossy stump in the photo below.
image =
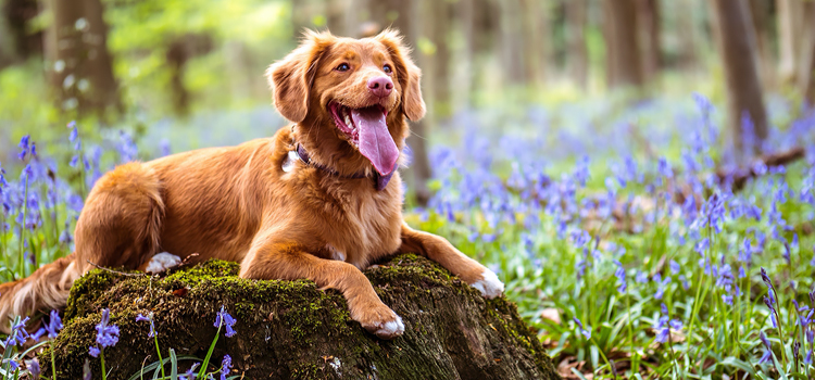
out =
[[238,262],[243,278],[337,289],[351,318],[380,339],[404,332],[362,273],[386,256],[421,254],[485,296],[501,295],[494,273],[402,218],[397,166],[405,117],[425,114],[421,75],[394,30],[359,40],[306,31],[266,71],[290,127],[109,172],[88,195],[74,253],[0,286],[0,318],[64,307],[90,263],[155,273],[178,256]]

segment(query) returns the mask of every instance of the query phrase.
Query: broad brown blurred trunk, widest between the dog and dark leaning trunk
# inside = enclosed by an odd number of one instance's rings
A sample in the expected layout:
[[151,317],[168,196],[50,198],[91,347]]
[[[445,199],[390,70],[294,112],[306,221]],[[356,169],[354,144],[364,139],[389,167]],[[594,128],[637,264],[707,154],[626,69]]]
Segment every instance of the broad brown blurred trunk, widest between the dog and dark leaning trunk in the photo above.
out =
[[635,1],[603,1],[606,81],[610,88],[641,87],[643,84]]

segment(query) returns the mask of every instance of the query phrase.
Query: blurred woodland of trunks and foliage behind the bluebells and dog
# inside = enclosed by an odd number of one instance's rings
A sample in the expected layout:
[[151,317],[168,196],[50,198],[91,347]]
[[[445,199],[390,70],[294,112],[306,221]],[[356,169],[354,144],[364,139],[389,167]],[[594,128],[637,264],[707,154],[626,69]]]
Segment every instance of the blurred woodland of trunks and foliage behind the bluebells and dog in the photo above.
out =
[[[127,129],[164,151],[269,136],[286,122],[269,104],[263,72],[304,28],[362,37],[392,26],[414,47],[429,113],[410,141],[413,183],[429,177],[425,145],[448,138],[446,123],[472,109],[586,99],[624,107],[695,90],[727,103],[732,141],[749,156],[742,116],[761,138],[769,97],[815,99],[807,0],[1,3],[5,162],[21,136],[36,130],[46,144],[58,141],[72,119],[85,132]],[[427,198],[424,186],[415,189]]]

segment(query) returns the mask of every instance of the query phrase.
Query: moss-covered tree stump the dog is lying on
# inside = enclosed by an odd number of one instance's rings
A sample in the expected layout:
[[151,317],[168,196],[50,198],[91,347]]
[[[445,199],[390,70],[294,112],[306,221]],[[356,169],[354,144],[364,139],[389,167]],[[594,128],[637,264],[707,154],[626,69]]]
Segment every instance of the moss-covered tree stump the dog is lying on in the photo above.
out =
[[[174,349],[203,358],[222,306],[237,319],[237,334],[225,338],[222,331],[212,362],[229,354],[233,373],[244,379],[559,378],[514,304],[485,300],[424,257],[400,255],[365,270],[383,302],[404,320],[404,334],[392,341],[353,321],[337,291],[306,280],[241,279],[238,268],[209,261],[162,278],[89,271],[71,289],[65,329],[53,344],[58,379],[82,378],[86,359],[93,378],[101,378],[88,346],[102,308],[110,308],[111,324],[121,329],[118,343],[104,351],[108,378],[127,379],[158,359],[148,324],[136,315],[153,312],[164,357]],[[50,352],[39,360],[50,378]],[[186,369],[192,362],[180,363]]]

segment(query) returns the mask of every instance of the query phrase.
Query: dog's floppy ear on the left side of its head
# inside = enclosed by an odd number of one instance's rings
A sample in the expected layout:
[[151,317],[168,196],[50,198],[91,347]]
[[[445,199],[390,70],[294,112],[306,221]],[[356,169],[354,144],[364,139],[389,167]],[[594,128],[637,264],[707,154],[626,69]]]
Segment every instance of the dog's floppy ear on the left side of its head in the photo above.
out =
[[277,111],[289,121],[300,123],[309,114],[309,90],[317,73],[319,58],[334,42],[328,31],[305,30],[304,39],[289,55],[266,69]]

